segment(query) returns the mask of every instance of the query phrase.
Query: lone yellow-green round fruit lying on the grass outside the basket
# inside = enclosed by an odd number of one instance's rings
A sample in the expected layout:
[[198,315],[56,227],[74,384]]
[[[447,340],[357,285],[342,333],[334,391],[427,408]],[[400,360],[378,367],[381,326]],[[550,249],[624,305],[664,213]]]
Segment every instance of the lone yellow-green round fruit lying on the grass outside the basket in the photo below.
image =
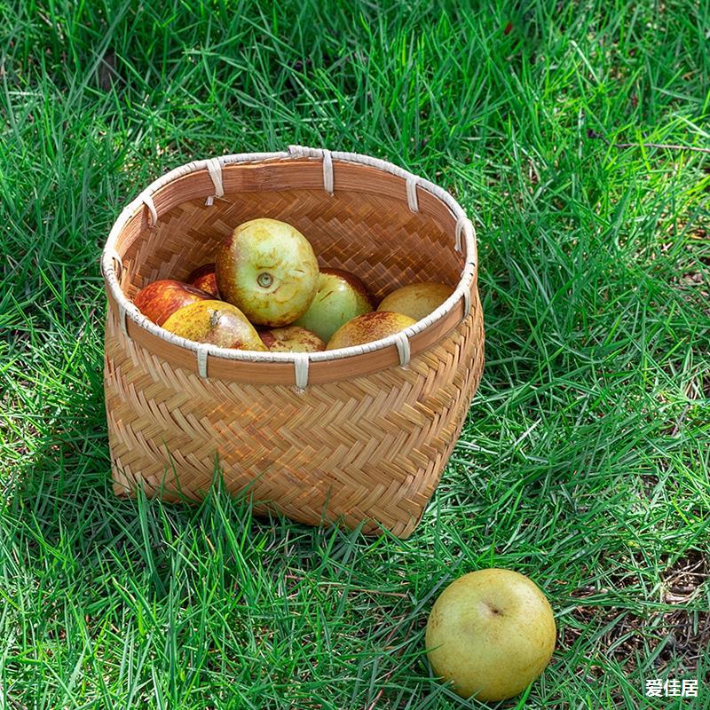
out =
[[498,702],[522,692],[555,650],[555,616],[540,588],[513,570],[454,580],[431,608],[427,655],[434,675],[463,698]]

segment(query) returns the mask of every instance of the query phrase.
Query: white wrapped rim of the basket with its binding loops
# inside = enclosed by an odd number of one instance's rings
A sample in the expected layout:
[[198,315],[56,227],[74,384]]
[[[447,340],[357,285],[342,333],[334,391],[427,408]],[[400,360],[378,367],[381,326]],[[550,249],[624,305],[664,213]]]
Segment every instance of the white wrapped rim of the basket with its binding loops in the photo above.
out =
[[[148,209],[150,214],[150,224],[157,224],[160,215],[157,213],[153,201],[154,193],[157,193],[162,187],[170,184],[178,177],[183,177],[189,173],[207,170],[209,177],[215,187],[213,195],[205,195],[208,198],[208,204],[214,197],[221,197],[224,194],[222,187],[222,169],[227,165],[239,163],[262,163],[262,162],[280,162],[293,159],[308,158],[323,163],[323,188],[329,193],[334,193],[334,162],[351,162],[360,165],[367,165],[383,172],[388,172],[391,175],[400,177],[406,184],[406,201],[408,208],[412,212],[418,212],[417,189],[426,190],[433,196],[437,197],[451,213],[455,219],[454,233],[454,248],[456,251],[462,252],[465,255],[464,268],[461,271],[461,278],[454,288],[454,293],[449,296],[446,301],[431,312],[430,315],[418,320],[414,325],[406,327],[395,335],[389,335],[380,340],[371,341],[347,348],[339,348],[330,351],[319,352],[260,352],[260,351],[241,351],[233,348],[223,348],[211,343],[196,343],[192,340],[187,340],[179,335],[174,335],[170,331],[156,325],[153,321],[144,316],[138,307],[133,304],[129,298],[123,293],[116,274],[114,262],[122,269],[122,256],[116,250],[116,243],[123,228],[130,220],[142,214],[145,209]],[[384,348],[395,346],[398,351],[398,357],[401,365],[406,365],[409,360],[409,338],[413,335],[421,333],[426,328],[443,319],[447,313],[454,310],[456,304],[463,300],[463,319],[469,316],[471,285],[477,280],[477,237],[476,228],[473,222],[466,215],[461,205],[454,199],[451,193],[446,192],[444,188],[430,182],[426,178],[419,177],[409,170],[394,165],[391,162],[384,161],[380,158],[374,158],[365,154],[347,153],[342,151],[330,151],[326,148],[312,148],[306,146],[288,146],[288,151],[279,151],[273,153],[241,153],[221,155],[214,158],[208,158],[200,161],[193,161],[180,165],[177,168],[158,177],[142,192],[138,193],[115,220],[111,228],[106,244],[103,248],[100,260],[101,273],[106,281],[106,286],[110,294],[114,297],[118,305],[119,318],[122,322],[122,327],[125,329],[126,319],[130,319],[136,326],[147,330],[152,335],[156,335],[162,340],[193,351],[197,357],[201,369],[206,367],[208,356],[210,358],[246,360],[248,362],[264,362],[264,363],[293,363],[296,370],[296,386],[299,383],[307,383],[308,381],[308,365],[310,362],[318,362],[321,360],[336,360],[347,359],[357,355],[362,355],[367,352],[379,351]],[[461,249],[463,247],[463,250]]]

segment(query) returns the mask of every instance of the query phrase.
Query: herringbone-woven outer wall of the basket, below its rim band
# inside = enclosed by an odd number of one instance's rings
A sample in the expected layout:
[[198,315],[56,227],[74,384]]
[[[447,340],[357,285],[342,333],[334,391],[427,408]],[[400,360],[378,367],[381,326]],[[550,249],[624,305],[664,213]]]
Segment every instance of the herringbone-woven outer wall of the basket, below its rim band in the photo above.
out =
[[199,499],[215,454],[232,493],[257,511],[406,537],[438,485],[480,380],[480,303],[436,347],[302,393],[163,367],[106,319],[106,414],[114,492]]

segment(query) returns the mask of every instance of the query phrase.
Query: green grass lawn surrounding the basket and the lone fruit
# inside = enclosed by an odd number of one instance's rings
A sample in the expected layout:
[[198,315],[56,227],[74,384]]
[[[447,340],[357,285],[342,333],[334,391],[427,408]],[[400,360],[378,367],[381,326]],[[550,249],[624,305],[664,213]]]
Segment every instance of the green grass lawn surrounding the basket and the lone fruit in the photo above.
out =
[[[710,156],[615,146],[710,146],[710,4],[468,7],[0,3],[3,708],[478,706],[423,633],[490,565],[559,627],[504,706],[710,706]],[[291,143],[477,223],[485,375],[408,540],[111,493],[110,225],[165,170]]]

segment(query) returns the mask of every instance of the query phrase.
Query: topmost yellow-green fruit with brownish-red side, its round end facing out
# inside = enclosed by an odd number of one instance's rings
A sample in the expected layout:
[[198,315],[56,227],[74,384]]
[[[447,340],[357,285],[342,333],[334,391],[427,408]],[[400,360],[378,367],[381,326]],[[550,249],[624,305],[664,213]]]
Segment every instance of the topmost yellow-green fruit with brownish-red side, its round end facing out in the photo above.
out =
[[217,248],[220,295],[257,325],[280,327],[308,310],[318,288],[318,261],[296,227],[278,219],[239,225]]

